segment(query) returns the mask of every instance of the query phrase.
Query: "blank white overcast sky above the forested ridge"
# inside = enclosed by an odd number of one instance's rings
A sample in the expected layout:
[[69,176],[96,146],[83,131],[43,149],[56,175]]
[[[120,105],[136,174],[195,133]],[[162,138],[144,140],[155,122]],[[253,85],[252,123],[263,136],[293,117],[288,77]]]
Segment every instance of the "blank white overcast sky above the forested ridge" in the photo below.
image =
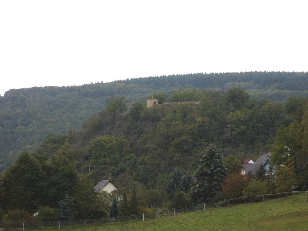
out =
[[144,76],[308,71],[307,1],[0,1],[0,94]]

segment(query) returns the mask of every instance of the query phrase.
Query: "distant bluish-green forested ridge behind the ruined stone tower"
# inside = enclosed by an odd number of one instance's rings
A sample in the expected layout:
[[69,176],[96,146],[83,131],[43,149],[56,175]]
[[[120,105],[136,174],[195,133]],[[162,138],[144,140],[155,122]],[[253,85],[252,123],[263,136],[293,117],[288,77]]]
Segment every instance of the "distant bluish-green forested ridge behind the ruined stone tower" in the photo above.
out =
[[[245,89],[252,99],[286,101],[308,94],[308,73],[241,72],[148,77],[71,87],[32,87],[10,90],[0,96],[0,172],[21,150],[33,151],[49,133],[63,134],[81,128],[97,115],[107,99],[123,95],[131,103],[146,102],[148,95],[168,99],[187,88],[226,91]],[[174,96],[175,97],[175,96]],[[176,100],[174,98],[173,100]]]

